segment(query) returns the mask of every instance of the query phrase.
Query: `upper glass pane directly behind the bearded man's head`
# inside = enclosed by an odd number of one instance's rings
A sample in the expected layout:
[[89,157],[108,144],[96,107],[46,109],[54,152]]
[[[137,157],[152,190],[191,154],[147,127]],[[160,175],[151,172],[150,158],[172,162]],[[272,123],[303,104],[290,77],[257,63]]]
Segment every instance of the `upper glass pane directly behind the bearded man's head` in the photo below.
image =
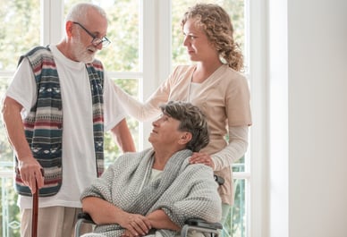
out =
[[97,53],[107,71],[140,72],[138,0],[65,0],[65,14],[73,4],[90,2],[106,10],[111,44]]

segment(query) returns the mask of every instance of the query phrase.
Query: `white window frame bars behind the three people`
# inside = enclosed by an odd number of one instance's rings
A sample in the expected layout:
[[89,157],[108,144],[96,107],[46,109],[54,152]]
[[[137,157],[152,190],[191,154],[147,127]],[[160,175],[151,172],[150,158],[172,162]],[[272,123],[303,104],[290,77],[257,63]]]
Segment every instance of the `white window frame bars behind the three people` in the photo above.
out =
[[[172,0],[140,1],[140,69],[142,72],[109,72],[115,78],[138,78],[139,99],[143,101],[157,89],[172,72],[171,63],[171,2]],[[251,4],[250,4],[251,3]],[[63,0],[41,0],[43,33],[42,45],[54,44],[63,36]],[[141,11],[142,10],[142,11]],[[245,20],[247,26],[246,54],[249,59],[251,111],[253,125],[250,127],[250,146],[245,172],[234,173],[237,179],[246,179],[249,199],[247,211],[247,233],[249,237],[266,236],[267,233],[267,4],[266,1],[245,0]],[[146,37],[144,37],[146,35]],[[0,72],[2,77],[11,77],[14,72]],[[146,81],[146,83],[143,83]],[[150,123],[140,123],[139,148],[149,146],[147,136]],[[4,174],[4,175],[7,175]],[[12,174],[11,174],[12,175]],[[3,176],[3,174],[1,175]]]

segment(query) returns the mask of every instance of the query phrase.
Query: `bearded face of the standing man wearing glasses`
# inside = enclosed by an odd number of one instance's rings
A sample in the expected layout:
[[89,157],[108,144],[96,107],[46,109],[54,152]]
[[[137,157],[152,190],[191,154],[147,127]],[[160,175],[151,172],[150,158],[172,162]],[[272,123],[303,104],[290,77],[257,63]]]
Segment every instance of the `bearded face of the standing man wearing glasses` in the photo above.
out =
[[107,31],[107,21],[105,17],[91,11],[88,22],[79,22],[80,24],[72,23],[76,29],[76,34],[73,36],[72,56],[75,61],[82,63],[91,63],[97,50],[101,50],[103,44],[94,44],[94,38],[104,38]]

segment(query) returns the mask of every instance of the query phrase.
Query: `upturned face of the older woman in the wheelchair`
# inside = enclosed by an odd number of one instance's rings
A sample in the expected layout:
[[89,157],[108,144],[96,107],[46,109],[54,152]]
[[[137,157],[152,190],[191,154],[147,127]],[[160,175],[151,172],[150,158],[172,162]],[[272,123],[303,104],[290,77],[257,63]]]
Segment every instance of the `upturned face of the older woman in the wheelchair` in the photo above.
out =
[[150,132],[148,141],[153,146],[159,145],[161,148],[167,148],[177,144],[182,138],[182,135],[186,133],[185,131],[178,130],[180,121],[167,114],[162,114],[152,125],[153,130]]

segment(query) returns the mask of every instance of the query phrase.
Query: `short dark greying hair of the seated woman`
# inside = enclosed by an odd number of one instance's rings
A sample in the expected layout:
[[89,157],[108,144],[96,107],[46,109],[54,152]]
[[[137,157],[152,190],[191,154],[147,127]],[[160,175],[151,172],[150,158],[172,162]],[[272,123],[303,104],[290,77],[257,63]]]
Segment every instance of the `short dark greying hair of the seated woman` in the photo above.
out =
[[207,120],[198,106],[193,106],[189,102],[170,101],[160,108],[164,114],[180,121],[179,131],[191,133],[191,140],[186,148],[196,152],[207,146],[209,142]]

